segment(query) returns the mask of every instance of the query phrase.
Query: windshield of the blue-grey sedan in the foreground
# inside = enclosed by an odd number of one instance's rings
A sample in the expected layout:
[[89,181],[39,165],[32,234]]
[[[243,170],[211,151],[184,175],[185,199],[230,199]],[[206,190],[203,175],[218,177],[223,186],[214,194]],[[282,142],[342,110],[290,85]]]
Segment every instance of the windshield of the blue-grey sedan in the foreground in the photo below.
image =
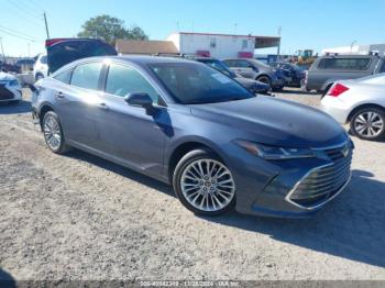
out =
[[226,102],[255,97],[226,75],[199,63],[151,64],[150,68],[183,104]]

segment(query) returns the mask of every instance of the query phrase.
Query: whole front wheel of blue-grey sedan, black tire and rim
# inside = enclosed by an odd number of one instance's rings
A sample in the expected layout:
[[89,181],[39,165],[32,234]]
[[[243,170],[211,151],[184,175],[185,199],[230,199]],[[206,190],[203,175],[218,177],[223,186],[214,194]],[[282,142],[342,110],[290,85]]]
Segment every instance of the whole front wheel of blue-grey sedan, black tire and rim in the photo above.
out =
[[207,149],[191,151],[179,160],[173,186],[180,202],[196,214],[219,215],[235,204],[231,171]]

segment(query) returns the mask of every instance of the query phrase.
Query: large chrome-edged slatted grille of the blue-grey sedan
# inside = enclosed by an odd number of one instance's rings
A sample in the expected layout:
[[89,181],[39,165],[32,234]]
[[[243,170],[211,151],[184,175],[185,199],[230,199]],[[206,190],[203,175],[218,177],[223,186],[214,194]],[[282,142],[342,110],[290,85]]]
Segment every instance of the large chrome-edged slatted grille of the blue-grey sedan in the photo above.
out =
[[292,202],[306,208],[319,206],[338,193],[349,181],[353,154],[350,144],[324,149],[323,153],[331,163],[311,170],[289,195]]

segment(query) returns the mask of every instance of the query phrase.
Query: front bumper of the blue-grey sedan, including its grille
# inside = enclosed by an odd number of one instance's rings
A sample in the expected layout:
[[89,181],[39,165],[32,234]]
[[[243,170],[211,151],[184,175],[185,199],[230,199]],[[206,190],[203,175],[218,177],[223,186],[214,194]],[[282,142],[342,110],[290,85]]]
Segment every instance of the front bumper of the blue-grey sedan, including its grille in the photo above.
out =
[[263,173],[243,163],[243,170],[234,173],[235,209],[245,214],[277,218],[316,214],[348,186],[353,147],[349,140],[317,149],[315,158],[264,160],[268,168]]

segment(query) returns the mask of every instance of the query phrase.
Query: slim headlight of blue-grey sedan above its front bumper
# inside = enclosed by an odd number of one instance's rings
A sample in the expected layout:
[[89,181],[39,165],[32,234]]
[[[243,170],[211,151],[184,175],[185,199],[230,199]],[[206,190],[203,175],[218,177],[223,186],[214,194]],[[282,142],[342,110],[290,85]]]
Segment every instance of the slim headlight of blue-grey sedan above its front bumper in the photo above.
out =
[[238,140],[235,143],[251,154],[268,160],[316,157],[316,153],[308,148],[275,147],[244,140]]

